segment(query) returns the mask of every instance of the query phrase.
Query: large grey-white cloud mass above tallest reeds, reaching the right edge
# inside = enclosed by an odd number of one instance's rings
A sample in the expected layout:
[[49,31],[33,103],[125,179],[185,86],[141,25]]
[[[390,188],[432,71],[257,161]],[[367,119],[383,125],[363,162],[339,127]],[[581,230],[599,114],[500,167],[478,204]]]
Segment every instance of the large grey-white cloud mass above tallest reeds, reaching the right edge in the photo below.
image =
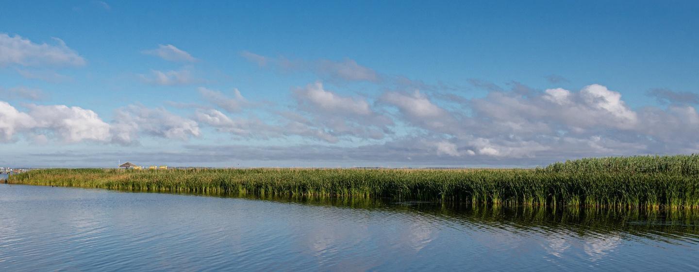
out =
[[[514,89],[515,87],[513,87]],[[438,154],[474,155],[500,160],[543,157],[562,159],[599,155],[696,152],[699,115],[696,108],[629,108],[619,92],[589,85],[577,92],[549,89],[491,92],[484,98],[454,103],[447,109],[419,92],[386,92],[381,101],[398,108],[398,118],[447,136],[435,145]],[[452,96],[440,96],[449,99]]]

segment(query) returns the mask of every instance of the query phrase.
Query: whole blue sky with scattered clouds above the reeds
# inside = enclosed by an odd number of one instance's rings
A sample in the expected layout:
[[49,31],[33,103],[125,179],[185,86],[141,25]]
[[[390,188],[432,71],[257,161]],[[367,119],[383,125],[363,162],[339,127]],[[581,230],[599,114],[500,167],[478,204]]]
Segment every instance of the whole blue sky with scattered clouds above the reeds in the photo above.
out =
[[0,1],[0,166],[699,153],[697,1]]

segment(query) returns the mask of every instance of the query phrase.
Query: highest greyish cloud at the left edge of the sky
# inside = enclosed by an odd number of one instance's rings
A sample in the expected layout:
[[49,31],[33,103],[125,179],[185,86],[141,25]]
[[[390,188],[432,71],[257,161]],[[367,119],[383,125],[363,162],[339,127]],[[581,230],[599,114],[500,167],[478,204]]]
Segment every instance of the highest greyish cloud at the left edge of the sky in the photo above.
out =
[[27,38],[0,34],[0,66],[82,66],[85,59],[59,38],[55,45],[33,43]]

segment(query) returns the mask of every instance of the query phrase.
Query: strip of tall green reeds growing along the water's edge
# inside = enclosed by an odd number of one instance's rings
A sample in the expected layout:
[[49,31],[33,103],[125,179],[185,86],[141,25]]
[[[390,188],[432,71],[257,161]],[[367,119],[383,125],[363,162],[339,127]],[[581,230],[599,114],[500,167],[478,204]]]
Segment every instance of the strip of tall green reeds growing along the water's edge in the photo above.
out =
[[577,159],[537,169],[35,169],[6,182],[492,206],[696,209],[699,155]]

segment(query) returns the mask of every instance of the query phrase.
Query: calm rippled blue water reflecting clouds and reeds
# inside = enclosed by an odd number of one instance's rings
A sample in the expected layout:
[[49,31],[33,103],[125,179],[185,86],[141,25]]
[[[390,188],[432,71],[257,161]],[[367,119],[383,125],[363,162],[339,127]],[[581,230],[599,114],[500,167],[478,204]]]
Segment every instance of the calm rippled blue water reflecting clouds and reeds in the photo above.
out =
[[698,271],[695,212],[0,185],[0,271]]

